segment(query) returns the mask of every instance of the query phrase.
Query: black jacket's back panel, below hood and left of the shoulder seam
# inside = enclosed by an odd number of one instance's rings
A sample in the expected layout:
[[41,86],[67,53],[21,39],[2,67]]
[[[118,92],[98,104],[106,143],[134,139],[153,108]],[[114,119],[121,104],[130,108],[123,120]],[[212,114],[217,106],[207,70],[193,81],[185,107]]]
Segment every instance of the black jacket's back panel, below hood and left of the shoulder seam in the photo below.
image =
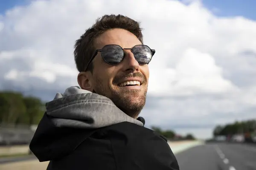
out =
[[99,131],[85,139],[72,153],[50,161],[47,170],[116,170],[111,141]]

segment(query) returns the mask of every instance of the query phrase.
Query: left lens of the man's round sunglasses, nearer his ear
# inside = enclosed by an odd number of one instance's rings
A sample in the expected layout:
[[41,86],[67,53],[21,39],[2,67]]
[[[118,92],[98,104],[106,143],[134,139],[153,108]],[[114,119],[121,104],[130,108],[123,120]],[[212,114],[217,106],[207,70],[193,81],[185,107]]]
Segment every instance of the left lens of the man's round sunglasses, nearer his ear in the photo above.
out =
[[119,45],[106,45],[102,48],[102,58],[108,64],[118,64],[124,57],[124,51]]

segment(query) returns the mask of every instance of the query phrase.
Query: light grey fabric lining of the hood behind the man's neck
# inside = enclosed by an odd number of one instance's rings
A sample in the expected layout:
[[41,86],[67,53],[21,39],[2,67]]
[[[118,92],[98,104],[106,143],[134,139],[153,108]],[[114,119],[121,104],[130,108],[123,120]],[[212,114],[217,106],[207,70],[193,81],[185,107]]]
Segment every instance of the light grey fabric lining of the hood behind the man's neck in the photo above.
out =
[[78,86],[67,88],[64,94],[57,93],[46,104],[46,110],[56,127],[99,128],[120,122],[143,126],[141,121],[117,108],[111,99]]

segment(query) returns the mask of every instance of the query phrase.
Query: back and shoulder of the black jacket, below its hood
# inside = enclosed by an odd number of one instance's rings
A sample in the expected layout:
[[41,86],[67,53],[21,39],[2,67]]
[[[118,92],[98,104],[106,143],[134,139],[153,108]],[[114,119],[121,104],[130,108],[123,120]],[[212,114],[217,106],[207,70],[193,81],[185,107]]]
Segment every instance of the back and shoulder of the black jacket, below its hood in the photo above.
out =
[[122,122],[100,128],[47,170],[179,170],[166,140],[145,127]]

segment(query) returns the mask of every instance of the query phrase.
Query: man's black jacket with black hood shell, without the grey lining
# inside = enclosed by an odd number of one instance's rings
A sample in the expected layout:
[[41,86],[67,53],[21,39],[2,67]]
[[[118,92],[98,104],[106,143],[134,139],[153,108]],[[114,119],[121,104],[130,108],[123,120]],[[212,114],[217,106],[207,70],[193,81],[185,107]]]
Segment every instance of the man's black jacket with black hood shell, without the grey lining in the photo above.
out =
[[49,113],[30,143],[39,161],[50,161],[47,170],[179,170],[166,139],[144,127],[143,118],[143,125],[79,128],[60,126]]

